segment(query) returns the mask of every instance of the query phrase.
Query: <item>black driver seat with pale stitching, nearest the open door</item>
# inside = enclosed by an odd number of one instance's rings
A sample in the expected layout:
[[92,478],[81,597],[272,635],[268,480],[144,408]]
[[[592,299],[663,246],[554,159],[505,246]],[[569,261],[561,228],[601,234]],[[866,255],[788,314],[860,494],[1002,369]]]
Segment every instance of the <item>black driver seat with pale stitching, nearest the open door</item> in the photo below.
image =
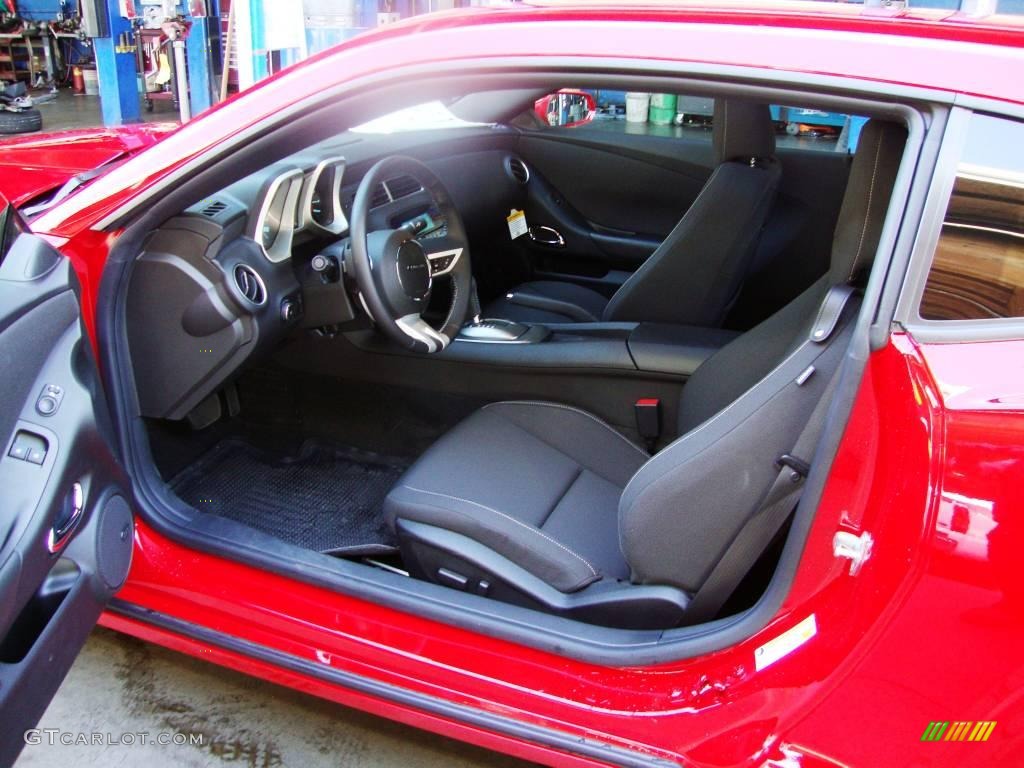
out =
[[414,575],[607,626],[699,621],[687,606],[829,391],[905,138],[865,126],[828,273],[700,366],[682,436],[653,457],[592,414],[541,401],[486,406],[431,446],[385,500]]

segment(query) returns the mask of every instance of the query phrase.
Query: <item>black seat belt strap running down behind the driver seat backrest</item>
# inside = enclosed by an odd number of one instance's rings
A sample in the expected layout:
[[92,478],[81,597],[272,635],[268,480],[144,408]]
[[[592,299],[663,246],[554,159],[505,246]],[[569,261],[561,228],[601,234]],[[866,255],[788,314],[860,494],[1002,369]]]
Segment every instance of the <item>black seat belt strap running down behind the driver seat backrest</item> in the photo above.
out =
[[821,393],[814,411],[811,412],[804,430],[797,438],[793,453],[783,454],[776,462],[779,466],[778,475],[757,511],[739,529],[732,544],[725,550],[725,554],[712,568],[711,574],[686,606],[685,617],[688,625],[710,622],[718,614],[743,577],[768,549],[768,545],[775,539],[775,535],[797,506],[800,494],[804,489],[804,480],[810,470],[809,460],[802,460],[802,457],[813,455],[824,427],[828,404],[831,402],[842,368],[840,360],[828,385]]

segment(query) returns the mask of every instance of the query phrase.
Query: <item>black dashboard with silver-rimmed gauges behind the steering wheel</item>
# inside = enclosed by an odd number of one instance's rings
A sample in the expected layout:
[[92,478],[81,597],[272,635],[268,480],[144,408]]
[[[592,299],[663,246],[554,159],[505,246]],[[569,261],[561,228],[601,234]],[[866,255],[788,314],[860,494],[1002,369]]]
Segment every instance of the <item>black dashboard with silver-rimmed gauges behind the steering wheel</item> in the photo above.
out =
[[[219,413],[218,389],[289,334],[369,327],[343,259],[355,191],[381,157],[420,155],[464,220],[486,203],[504,225],[516,189],[503,170],[509,151],[494,144],[508,137],[476,134],[469,141],[466,132],[441,141],[436,133],[342,137],[268,165],[151,232],[126,303],[141,415]],[[424,146],[436,157],[424,158]],[[446,233],[432,196],[410,176],[371,190],[367,224],[371,231],[408,224],[421,239]]]

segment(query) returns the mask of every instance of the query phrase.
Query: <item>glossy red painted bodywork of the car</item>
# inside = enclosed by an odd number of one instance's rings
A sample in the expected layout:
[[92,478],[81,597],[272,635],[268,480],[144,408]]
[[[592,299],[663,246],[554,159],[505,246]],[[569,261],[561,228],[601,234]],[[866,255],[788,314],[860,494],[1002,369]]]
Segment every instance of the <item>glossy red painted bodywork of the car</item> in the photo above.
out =
[[[104,259],[116,240],[91,228],[96,222],[272,112],[341,80],[424,61],[557,51],[736,68],[761,77],[775,72],[780,80],[797,74],[899,83],[922,93],[991,99],[1019,115],[1024,26],[1013,25],[939,11],[871,14],[859,6],[828,12],[821,6],[554,7],[412,19],[219,105],[166,135],[157,150],[97,178],[33,228],[72,259],[91,328]],[[409,45],[414,33],[416,45]],[[42,167],[47,152],[44,141],[0,147],[0,160]],[[94,144],[72,145],[60,162],[92,167],[95,152]],[[11,188],[17,198],[19,187]],[[23,199],[32,195],[25,189]],[[603,764],[573,754],[572,744],[595,742],[617,748],[636,764],[1016,765],[1024,749],[1021,360],[1024,340],[920,344],[895,331],[867,361],[783,605],[756,635],[711,654],[654,667],[574,660],[190,550],[143,521],[119,600],[205,634],[189,637],[119,613],[106,614],[103,624],[552,765]],[[979,500],[983,504],[968,505],[967,514],[984,509],[994,518],[994,525],[976,526],[986,531],[980,554],[949,546],[951,512],[945,507],[951,499]],[[841,530],[870,531],[874,539],[868,564],[855,577],[848,561],[834,556]],[[757,649],[811,615],[814,637],[758,670]],[[225,648],[217,636],[254,650]],[[311,668],[325,674],[310,674]],[[391,694],[381,695],[382,689]],[[417,703],[425,699],[442,706]],[[540,727],[563,740],[497,732],[474,721],[473,712]],[[936,720],[996,721],[997,727],[985,743],[922,742]]]

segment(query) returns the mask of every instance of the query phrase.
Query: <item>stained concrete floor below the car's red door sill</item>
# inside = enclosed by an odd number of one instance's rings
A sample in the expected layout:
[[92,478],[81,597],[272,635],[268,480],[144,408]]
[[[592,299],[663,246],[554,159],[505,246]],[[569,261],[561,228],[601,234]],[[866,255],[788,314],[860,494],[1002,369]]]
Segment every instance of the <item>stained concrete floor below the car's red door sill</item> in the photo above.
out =
[[15,768],[524,768],[110,630],[93,632],[39,728],[202,734],[203,745],[25,748]]

